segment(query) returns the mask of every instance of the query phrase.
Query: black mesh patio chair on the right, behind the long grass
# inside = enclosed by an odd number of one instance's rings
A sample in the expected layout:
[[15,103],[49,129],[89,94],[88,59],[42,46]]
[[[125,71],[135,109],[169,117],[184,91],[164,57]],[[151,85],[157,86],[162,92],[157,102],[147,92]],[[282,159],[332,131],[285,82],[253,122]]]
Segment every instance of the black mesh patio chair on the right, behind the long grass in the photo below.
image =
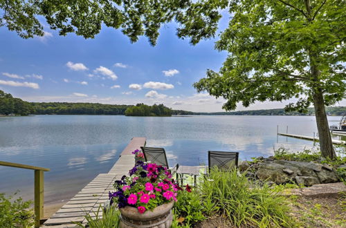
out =
[[212,167],[217,167],[222,171],[229,171],[233,167],[238,167],[239,152],[208,151],[209,171]]

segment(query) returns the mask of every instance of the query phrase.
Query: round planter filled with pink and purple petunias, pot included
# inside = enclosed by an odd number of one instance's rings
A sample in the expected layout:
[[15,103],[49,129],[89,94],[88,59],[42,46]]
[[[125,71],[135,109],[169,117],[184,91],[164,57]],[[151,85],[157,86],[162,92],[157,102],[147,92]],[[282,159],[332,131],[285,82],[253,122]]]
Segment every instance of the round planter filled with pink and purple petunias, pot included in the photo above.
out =
[[138,161],[114,187],[109,199],[118,204],[120,227],[170,227],[172,207],[182,189],[167,168]]

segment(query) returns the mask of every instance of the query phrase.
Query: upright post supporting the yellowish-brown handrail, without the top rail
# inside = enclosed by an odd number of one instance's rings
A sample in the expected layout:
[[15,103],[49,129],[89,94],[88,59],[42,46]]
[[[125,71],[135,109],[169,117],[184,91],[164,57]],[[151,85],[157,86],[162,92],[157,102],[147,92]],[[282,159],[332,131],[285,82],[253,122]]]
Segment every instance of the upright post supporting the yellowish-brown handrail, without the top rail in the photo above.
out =
[[44,171],[35,170],[35,227],[44,216]]

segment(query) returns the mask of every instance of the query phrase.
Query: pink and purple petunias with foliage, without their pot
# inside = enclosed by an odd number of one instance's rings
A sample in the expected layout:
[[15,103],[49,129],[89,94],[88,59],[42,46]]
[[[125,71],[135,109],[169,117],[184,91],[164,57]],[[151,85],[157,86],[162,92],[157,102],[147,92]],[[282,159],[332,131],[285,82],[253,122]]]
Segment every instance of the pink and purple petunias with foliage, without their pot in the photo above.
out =
[[109,192],[111,205],[136,207],[139,213],[176,201],[178,191],[182,190],[166,167],[142,161],[136,162],[128,177],[116,180],[114,187],[116,191]]

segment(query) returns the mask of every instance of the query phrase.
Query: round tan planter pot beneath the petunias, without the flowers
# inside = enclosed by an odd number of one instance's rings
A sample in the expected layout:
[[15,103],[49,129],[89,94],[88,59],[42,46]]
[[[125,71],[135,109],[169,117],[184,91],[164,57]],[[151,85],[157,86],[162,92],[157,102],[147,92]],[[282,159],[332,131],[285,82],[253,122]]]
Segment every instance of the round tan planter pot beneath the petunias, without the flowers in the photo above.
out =
[[172,224],[172,207],[174,201],[160,205],[153,211],[139,213],[135,207],[120,208],[120,228],[170,228]]

